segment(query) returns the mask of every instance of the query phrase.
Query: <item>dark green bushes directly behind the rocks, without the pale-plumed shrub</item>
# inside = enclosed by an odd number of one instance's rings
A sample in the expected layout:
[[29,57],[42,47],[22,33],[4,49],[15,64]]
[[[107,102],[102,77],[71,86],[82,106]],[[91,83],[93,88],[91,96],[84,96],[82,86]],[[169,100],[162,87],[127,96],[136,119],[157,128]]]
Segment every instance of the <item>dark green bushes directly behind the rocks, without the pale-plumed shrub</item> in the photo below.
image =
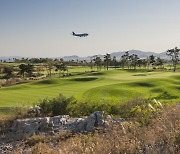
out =
[[39,106],[43,116],[65,115],[70,116],[86,116],[95,111],[105,111],[106,114],[115,114],[119,112],[118,103],[107,101],[93,102],[85,101],[78,102],[74,97],[66,98],[62,94],[54,99],[43,99]]

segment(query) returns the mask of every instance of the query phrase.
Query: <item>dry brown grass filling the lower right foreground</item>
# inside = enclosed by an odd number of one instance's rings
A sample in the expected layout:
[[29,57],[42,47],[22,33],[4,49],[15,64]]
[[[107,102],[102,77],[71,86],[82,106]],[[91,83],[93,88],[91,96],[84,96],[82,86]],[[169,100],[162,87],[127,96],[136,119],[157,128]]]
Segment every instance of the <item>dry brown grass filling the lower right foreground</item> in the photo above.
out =
[[[125,131],[122,128],[125,128]],[[77,134],[59,140],[56,144],[42,138],[29,148],[35,154],[79,154],[79,153],[180,153],[180,110],[167,107],[148,126],[140,126],[136,121],[113,125],[92,134]],[[19,147],[18,151],[22,149]]]

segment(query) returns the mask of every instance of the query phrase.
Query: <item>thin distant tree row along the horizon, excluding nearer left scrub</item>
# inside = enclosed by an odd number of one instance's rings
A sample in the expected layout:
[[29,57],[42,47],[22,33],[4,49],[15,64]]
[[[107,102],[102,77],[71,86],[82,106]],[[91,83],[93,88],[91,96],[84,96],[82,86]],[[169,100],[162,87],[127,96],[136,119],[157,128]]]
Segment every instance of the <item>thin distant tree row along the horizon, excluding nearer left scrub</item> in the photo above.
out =
[[[176,70],[176,66],[179,61],[179,51],[177,47],[174,49],[167,50],[167,55],[170,57],[173,69],[174,71]],[[53,61],[53,62],[52,62]],[[52,65],[57,65],[56,63],[65,63],[66,65],[69,66],[90,66],[91,69],[95,65],[97,66],[97,70],[101,70],[101,67],[104,66],[106,69],[109,69],[109,66],[113,66],[115,68],[117,67],[122,67],[123,69],[127,67],[128,69],[136,69],[136,67],[149,67],[152,66],[153,68],[155,67],[160,67],[162,68],[163,65],[167,62],[167,60],[161,59],[160,57],[155,57],[154,55],[151,55],[147,57],[146,59],[140,59],[138,55],[132,54],[130,55],[129,52],[125,52],[124,55],[121,56],[119,60],[116,59],[116,57],[111,57],[110,54],[104,55],[104,57],[101,59],[99,56],[93,56],[91,57],[91,61],[88,62],[86,60],[69,60],[64,62],[62,58],[60,59],[49,59],[49,58],[22,58],[21,60],[15,59],[14,62],[20,62],[20,63],[44,63],[44,64],[49,64],[51,63]],[[58,70],[59,68],[57,68]],[[51,70],[51,69],[50,69]],[[50,72],[51,74],[51,72]]]

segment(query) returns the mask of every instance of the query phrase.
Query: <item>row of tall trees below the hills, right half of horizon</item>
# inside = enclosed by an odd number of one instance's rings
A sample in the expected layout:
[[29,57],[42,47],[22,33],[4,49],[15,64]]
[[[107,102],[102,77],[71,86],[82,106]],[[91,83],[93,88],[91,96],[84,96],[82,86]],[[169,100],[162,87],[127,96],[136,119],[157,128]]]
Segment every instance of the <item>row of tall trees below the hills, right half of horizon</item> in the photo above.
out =
[[[170,61],[173,65],[174,71],[176,71],[176,66],[179,62],[179,53],[180,53],[180,49],[178,49],[177,47],[175,47],[174,49],[167,50],[166,52],[166,54],[170,57]],[[91,68],[92,68],[92,60],[97,66],[97,70],[99,70],[102,65],[106,66],[107,70],[109,66],[113,66],[115,68],[122,67],[122,69],[124,69],[125,66],[127,66],[128,69],[132,69],[132,68],[136,69],[136,67],[147,68],[151,65],[153,68],[156,67],[162,68],[164,64],[167,63],[167,60],[161,59],[160,57],[155,57],[154,55],[151,55],[146,59],[140,59],[138,55],[136,54],[130,55],[128,51],[121,56],[121,59],[119,61],[116,59],[115,56],[111,58],[111,55],[108,53],[104,55],[104,61],[102,61],[100,57],[95,56],[94,59],[91,59]]]

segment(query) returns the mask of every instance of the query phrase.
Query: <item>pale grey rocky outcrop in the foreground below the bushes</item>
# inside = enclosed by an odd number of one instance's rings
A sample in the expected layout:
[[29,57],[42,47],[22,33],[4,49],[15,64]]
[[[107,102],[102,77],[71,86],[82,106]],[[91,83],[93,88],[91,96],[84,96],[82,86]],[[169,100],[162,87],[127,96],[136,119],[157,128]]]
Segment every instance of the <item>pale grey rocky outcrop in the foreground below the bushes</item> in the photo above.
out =
[[60,131],[91,132],[96,127],[108,126],[110,122],[122,122],[104,116],[103,111],[94,112],[84,118],[71,118],[69,115],[54,117],[17,119],[13,122],[11,131],[16,134],[35,135],[40,133],[55,134]]

